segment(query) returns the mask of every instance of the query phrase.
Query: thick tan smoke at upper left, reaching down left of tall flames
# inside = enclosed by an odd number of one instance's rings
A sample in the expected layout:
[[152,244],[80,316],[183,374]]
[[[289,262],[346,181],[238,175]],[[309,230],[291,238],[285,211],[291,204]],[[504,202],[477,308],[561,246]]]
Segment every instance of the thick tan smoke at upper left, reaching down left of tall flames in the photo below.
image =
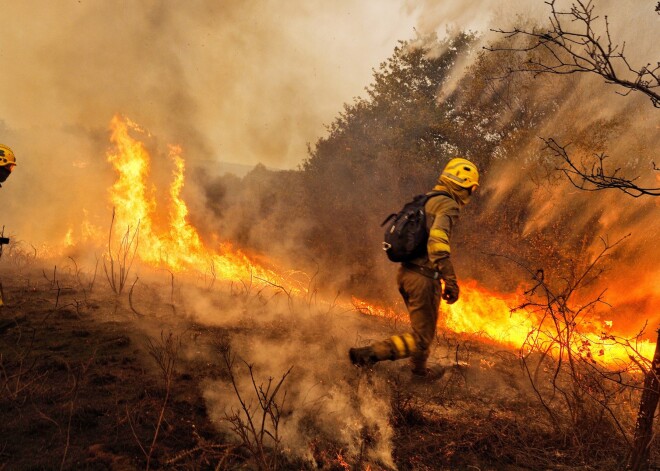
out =
[[[108,225],[115,113],[210,173],[218,160],[291,168],[413,25],[399,4],[381,2],[0,8],[0,142],[19,162],[2,190],[1,223],[35,244],[59,243],[83,209]],[[186,191],[194,206],[194,185]]]

